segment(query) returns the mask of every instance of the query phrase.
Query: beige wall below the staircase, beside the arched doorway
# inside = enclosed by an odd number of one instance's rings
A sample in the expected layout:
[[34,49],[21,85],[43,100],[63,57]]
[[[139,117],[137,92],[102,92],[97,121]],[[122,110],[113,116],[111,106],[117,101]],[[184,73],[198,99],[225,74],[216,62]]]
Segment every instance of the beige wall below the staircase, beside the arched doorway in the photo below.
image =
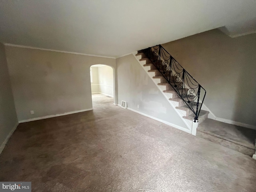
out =
[[132,54],[117,58],[116,68],[118,104],[127,101],[128,108],[187,128]]

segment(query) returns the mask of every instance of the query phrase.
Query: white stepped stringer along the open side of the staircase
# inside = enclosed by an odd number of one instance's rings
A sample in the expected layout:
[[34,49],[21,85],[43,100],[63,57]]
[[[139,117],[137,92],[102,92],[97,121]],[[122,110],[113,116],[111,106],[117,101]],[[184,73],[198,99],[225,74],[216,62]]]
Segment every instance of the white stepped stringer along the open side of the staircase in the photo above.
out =
[[[153,76],[155,76],[154,72],[148,72],[148,70],[150,70],[150,66],[146,66],[144,67],[143,65],[146,64],[146,61],[140,61],[140,56],[136,56],[137,52],[132,53],[133,56],[136,58],[136,60],[140,63],[140,65],[142,66],[142,68],[146,71],[146,73],[148,74],[148,76],[151,78],[151,80],[155,83],[156,87],[160,90],[160,92],[164,95],[164,97],[166,98],[166,100],[168,100],[168,102],[170,103],[170,105],[172,106],[172,108],[174,108],[175,112],[178,114],[178,116],[180,116],[180,118],[182,119],[182,121],[186,124],[188,130],[184,129],[180,129],[182,131],[188,132],[190,134],[196,135],[196,128],[198,123],[194,123],[192,120],[188,120],[188,119],[184,119],[184,112],[182,112],[181,110],[176,109],[176,106],[178,106],[177,102],[175,101],[171,101],[169,100],[170,98],[170,93],[164,93],[163,90],[165,90],[166,86],[161,86],[158,85],[159,80],[158,79],[154,79]],[[193,125],[194,124],[194,125]],[[192,130],[193,127],[193,130]]]

